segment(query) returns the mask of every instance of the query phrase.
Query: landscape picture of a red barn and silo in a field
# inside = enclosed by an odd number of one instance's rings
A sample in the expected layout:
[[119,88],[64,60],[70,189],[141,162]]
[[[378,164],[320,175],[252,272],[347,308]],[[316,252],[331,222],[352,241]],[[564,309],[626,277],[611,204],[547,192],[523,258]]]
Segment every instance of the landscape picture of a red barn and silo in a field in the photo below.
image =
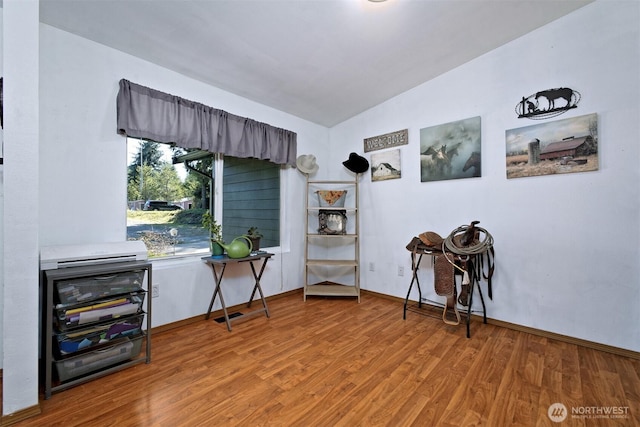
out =
[[507,178],[598,170],[598,115],[505,132]]

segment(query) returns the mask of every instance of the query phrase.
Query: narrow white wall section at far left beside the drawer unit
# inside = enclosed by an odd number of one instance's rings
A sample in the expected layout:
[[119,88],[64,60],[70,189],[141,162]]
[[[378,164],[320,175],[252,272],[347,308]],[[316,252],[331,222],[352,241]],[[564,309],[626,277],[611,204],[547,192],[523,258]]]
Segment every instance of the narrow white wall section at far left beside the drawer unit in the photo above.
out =
[[2,411],[38,402],[38,3],[3,9]]

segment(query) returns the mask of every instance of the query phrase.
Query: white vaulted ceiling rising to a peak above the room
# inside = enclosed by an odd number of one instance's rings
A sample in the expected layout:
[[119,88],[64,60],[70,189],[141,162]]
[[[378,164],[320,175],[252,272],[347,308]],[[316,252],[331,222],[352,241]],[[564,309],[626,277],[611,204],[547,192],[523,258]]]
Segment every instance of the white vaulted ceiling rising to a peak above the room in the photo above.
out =
[[331,127],[592,1],[40,0],[40,20]]

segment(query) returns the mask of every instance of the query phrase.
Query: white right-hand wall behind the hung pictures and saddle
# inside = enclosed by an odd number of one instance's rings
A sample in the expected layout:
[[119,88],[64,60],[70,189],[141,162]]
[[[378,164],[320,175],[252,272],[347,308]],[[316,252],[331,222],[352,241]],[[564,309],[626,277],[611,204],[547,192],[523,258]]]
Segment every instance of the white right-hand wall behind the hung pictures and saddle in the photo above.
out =
[[[333,173],[345,177],[341,161],[364,138],[409,129],[402,178],[363,179],[364,288],[404,298],[411,237],[479,220],[497,252],[489,317],[640,350],[639,6],[588,5],[331,129]],[[546,121],[597,113],[599,170],[507,180],[505,130],[540,123],[518,119],[516,104],[560,86],[582,100]],[[475,116],[483,176],[421,183],[420,129]],[[440,300],[432,275],[423,260],[423,292]]]

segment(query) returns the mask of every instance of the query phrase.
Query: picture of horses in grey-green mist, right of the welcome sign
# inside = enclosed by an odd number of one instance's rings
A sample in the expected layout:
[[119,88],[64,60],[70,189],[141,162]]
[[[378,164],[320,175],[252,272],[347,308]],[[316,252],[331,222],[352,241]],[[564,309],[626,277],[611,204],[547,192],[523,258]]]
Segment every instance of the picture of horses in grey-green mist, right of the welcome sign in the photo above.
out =
[[482,176],[480,117],[420,129],[420,180]]

